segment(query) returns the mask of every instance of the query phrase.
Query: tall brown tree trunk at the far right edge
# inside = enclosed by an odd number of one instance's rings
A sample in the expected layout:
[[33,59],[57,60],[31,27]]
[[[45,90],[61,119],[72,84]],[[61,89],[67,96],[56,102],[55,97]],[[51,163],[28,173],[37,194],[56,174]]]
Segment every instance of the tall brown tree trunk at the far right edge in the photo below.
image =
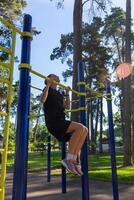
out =
[[[125,61],[131,63],[131,0],[126,0],[126,54]],[[124,166],[132,165],[131,151],[131,76],[124,80]]]

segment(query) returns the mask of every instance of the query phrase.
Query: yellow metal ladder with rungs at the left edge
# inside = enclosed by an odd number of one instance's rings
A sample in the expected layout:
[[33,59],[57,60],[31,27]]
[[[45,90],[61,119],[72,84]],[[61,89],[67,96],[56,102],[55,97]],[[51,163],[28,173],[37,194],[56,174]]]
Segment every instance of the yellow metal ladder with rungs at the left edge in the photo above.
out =
[[9,54],[9,63],[0,62],[0,66],[8,69],[9,78],[5,79],[0,76],[0,82],[7,85],[7,102],[6,112],[0,112],[0,117],[4,117],[4,129],[3,129],[3,148],[0,149],[2,157],[1,161],[1,173],[0,173],[0,200],[4,200],[5,194],[5,181],[6,181],[6,165],[7,165],[7,153],[8,153],[8,138],[9,138],[9,125],[10,125],[10,108],[11,108],[11,96],[12,96],[12,82],[13,82],[13,68],[14,68],[14,56],[15,56],[15,44],[16,44],[16,30],[12,29],[12,46],[11,49],[4,48],[0,45],[0,50]]

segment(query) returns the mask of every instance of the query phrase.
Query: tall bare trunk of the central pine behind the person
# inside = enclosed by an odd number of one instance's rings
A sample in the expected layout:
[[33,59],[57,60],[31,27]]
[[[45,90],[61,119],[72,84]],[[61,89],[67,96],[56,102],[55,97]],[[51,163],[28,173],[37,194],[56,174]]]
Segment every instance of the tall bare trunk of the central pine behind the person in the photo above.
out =
[[[73,11],[73,32],[74,32],[74,52],[73,52],[73,82],[72,87],[77,90],[77,65],[82,60],[82,0],[75,0]],[[78,99],[77,95],[72,93],[72,100]],[[78,103],[72,103],[72,109],[78,108]],[[72,113],[72,120],[78,121],[78,113]]]

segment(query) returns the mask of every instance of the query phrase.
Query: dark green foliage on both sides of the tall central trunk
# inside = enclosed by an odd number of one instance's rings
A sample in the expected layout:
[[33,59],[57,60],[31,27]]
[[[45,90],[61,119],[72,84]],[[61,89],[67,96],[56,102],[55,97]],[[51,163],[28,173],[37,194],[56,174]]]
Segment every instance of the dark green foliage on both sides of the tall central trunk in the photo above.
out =
[[[103,34],[101,29],[103,21],[99,17],[94,17],[92,23],[89,25],[83,23],[82,25],[82,56],[85,61],[86,80],[90,83],[92,80],[100,81],[100,74],[107,73],[106,66],[109,64],[111,58],[110,48],[105,47],[103,42]],[[63,76],[72,76],[72,55],[73,55],[73,33],[61,35],[60,47],[56,47],[50,58],[61,59],[61,62],[69,66]]]

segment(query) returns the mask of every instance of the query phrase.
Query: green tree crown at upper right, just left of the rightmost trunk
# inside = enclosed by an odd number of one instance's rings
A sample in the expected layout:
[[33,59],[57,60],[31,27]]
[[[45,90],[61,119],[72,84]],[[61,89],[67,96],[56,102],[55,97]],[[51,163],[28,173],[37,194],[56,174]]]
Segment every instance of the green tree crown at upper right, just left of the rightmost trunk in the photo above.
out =
[[104,37],[106,45],[113,45],[114,62],[124,62],[125,48],[125,12],[122,8],[111,8],[111,13],[105,16],[104,19]]

